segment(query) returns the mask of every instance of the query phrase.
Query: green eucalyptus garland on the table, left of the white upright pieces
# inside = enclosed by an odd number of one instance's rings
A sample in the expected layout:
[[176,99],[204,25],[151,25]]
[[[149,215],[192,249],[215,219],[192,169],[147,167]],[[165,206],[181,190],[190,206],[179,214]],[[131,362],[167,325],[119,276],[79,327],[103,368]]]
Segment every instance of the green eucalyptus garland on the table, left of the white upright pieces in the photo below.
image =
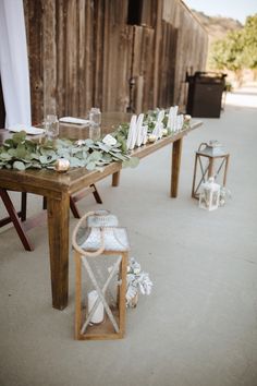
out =
[[136,167],[139,161],[136,157],[131,157],[123,143],[118,141],[114,144],[94,142],[89,138],[37,143],[27,140],[26,132],[21,131],[0,146],[0,169],[54,169],[60,158],[68,159],[71,168],[86,167],[87,170],[99,171],[112,161],[121,161],[124,167]]

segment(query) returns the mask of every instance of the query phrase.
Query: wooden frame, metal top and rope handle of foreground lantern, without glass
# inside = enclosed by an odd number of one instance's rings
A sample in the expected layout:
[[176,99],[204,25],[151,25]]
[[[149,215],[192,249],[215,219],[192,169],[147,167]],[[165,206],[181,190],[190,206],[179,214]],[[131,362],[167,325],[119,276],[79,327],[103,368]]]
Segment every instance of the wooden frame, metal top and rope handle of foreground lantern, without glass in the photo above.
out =
[[[103,210],[106,212],[106,210]],[[120,228],[117,226],[108,226],[110,224],[110,219],[103,218],[103,226],[89,227],[89,229],[98,229],[98,234],[100,233],[100,244],[97,246],[98,249],[91,251],[85,244],[79,245],[76,241],[76,234],[79,230],[81,224],[85,221],[89,216],[99,215],[98,212],[88,212],[85,216],[83,216],[78,224],[76,225],[73,236],[72,243],[75,249],[75,266],[76,266],[76,287],[75,287],[75,339],[78,340],[93,340],[93,339],[121,339],[125,334],[125,312],[126,312],[126,275],[127,275],[127,261],[128,261],[128,240],[125,228]],[[103,216],[105,217],[105,216]],[[101,221],[100,221],[101,222]],[[99,224],[99,222],[98,222]],[[101,222],[102,224],[102,222]],[[113,224],[113,220],[112,222]],[[124,239],[124,243],[119,242],[118,245],[113,245],[108,242],[108,233],[114,232],[115,229],[120,230],[121,237]],[[114,233],[113,233],[114,234]],[[94,238],[94,237],[93,237]],[[83,246],[84,245],[84,246]],[[109,272],[109,276],[103,285],[100,288],[95,274],[89,264],[89,260],[97,256],[117,256],[117,261],[112,266],[112,269]],[[89,279],[97,292],[97,300],[94,303],[93,307],[84,317],[82,310],[82,268],[85,268]],[[118,292],[117,292],[117,306],[110,307],[105,293],[111,284],[114,275],[118,274]],[[99,303],[102,303],[106,318],[100,324],[91,324],[91,316],[97,310]]]

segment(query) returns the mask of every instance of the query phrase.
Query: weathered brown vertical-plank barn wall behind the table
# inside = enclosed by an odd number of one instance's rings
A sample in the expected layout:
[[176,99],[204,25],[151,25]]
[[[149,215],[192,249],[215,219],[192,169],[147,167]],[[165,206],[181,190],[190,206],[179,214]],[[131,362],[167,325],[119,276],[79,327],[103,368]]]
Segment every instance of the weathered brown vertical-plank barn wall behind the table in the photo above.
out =
[[24,9],[34,122],[53,111],[85,117],[91,106],[182,106],[186,71],[205,69],[207,34],[180,0],[24,0]]

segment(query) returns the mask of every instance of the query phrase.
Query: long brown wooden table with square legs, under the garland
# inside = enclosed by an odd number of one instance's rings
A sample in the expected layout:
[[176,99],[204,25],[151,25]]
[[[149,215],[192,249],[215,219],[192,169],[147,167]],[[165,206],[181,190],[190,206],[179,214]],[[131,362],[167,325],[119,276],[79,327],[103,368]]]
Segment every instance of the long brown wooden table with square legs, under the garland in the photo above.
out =
[[[113,131],[113,124],[127,121],[128,119],[130,116],[127,114],[108,113],[102,119],[102,131],[105,133],[111,132]],[[163,146],[173,145],[171,197],[178,196],[183,137],[200,125],[201,122],[192,123],[189,129],[174,136],[163,137],[154,144],[147,144],[133,152],[134,156],[144,158]],[[84,138],[88,134],[87,130],[65,124],[61,126],[60,136]],[[121,162],[112,162],[105,167],[102,172],[87,171],[86,168],[75,168],[65,173],[58,173],[46,169],[27,169],[25,171],[0,169],[0,188],[17,192],[35,193],[47,197],[52,306],[54,309],[63,310],[68,305],[70,195],[110,174],[112,174],[112,186],[118,186],[121,168]]]

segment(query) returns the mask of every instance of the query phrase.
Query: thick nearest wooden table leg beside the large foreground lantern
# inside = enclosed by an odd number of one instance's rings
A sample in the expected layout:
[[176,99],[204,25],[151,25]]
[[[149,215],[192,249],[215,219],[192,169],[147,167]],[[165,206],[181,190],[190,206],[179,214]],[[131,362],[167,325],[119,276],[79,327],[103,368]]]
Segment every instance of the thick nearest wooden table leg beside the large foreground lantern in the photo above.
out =
[[68,305],[69,210],[69,194],[63,194],[61,200],[47,198],[52,306],[58,310]]

